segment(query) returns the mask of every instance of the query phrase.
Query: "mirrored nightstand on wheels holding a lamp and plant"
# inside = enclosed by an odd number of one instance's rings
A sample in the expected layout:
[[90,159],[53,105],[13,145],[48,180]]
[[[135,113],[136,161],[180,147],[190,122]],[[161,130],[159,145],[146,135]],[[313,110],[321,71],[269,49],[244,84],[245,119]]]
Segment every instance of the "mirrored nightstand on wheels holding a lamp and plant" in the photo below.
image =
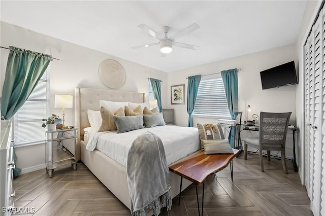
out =
[[77,169],[76,145],[77,128],[45,130],[46,173],[53,176],[56,167],[71,163]]

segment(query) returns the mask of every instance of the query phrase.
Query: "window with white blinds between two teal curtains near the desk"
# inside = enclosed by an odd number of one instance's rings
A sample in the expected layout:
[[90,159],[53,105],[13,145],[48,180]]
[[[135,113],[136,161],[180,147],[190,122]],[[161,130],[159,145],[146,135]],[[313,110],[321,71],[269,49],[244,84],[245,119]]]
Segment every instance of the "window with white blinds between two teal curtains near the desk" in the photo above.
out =
[[231,119],[221,74],[201,78],[192,117]]

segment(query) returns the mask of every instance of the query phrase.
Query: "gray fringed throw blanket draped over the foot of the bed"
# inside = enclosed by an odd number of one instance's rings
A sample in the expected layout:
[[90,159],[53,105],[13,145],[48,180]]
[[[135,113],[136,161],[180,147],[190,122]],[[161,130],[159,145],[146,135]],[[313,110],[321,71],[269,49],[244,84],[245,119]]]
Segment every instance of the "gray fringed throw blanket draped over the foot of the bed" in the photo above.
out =
[[169,169],[163,142],[157,135],[145,132],[133,141],[126,170],[132,215],[146,216],[152,209],[157,216],[161,207],[171,209]]

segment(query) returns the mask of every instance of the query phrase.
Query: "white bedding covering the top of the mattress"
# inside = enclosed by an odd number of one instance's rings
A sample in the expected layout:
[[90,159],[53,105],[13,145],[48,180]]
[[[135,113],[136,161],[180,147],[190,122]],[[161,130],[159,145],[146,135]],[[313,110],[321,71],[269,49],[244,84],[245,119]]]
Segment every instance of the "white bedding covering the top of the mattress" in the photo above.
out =
[[96,129],[93,129],[88,132],[89,141],[86,149],[89,151],[97,149],[126,167],[127,154],[132,142],[146,131],[151,131],[163,141],[168,165],[200,149],[198,128],[174,125],[143,128],[125,133],[96,132]]

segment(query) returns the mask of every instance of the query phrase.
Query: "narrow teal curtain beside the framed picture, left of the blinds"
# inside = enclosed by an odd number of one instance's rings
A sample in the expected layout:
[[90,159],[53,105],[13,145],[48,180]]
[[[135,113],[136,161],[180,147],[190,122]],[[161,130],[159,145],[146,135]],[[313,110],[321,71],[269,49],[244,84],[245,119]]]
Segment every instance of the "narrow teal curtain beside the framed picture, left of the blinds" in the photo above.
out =
[[194,110],[195,101],[197,100],[198,89],[201,81],[201,75],[188,77],[187,83],[187,113],[188,127],[193,127],[192,112]]

